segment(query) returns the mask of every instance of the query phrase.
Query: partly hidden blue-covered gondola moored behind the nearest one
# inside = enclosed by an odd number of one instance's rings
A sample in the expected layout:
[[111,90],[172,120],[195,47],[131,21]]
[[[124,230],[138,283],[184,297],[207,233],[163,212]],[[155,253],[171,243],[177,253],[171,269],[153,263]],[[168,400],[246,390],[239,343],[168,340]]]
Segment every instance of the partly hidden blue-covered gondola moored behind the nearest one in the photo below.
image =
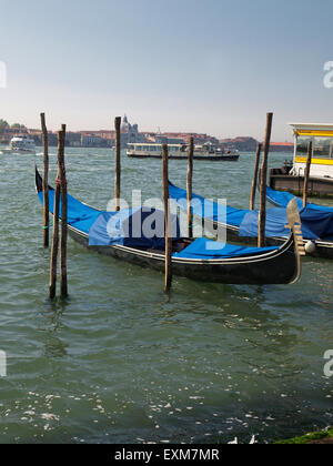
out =
[[[169,183],[170,197],[172,197],[183,210],[188,209],[186,191]],[[276,195],[276,193],[279,195]],[[228,240],[246,244],[255,244],[258,236],[258,211],[234,209],[226,206],[226,215],[218,214],[218,204],[206,201],[204,197],[193,193],[196,207],[193,207],[194,215],[202,216],[205,227],[213,232],[216,227],[224,227],[228,232]],[[268,188],[268,200],[274,203],[276,209],[269,209],[266,212],[266,244],[283,244],[289,235],[284,227],[286,222],[286,206],[294,201],[300,211],[303,232],[303,245],[306,255],[321,259],[333,259],[333,209],[320,207],[309,204],[303,209],[302,201],[290,193],[279,193]],[[278,202],[279,200],[279,202]],[[209,205],[208,213],[204,206]]]

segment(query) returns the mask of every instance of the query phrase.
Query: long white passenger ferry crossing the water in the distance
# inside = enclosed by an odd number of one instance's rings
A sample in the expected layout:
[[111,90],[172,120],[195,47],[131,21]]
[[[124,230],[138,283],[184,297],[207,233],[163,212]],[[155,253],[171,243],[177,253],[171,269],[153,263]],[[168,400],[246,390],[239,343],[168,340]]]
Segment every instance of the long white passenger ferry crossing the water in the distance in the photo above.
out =
[[[186,160],[189,156],[189,146],[186,144],[168,144],[168,149],[170,159]],[[128,156],[134,159],[162,159],[162,144],[128,144]],[[212,144],[203,144],[194,146],[193,159],[236,162],[240,159],[240,153],[214,148]]]

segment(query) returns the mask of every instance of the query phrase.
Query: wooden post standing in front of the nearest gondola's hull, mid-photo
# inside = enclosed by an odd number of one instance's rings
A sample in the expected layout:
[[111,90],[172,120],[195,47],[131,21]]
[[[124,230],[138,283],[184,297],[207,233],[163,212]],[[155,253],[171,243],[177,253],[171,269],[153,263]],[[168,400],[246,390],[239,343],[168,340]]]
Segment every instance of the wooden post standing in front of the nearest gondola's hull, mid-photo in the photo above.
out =
[[165,284],[164,292],[171,290],[172,284],[172,237],[171,221],[170,221],[170,205],[169,205],[169,152],[168,145],[162,145],[162,181],[163,181],[163,201],[164,201],[164,223],[165,223]]

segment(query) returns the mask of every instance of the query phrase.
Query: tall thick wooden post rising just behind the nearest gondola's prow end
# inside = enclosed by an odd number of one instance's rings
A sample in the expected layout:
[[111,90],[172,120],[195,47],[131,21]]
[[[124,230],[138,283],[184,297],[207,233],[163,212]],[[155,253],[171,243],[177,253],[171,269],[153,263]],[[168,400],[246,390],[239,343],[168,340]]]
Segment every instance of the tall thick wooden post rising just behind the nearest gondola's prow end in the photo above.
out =
[[268,166],[269,153],[272,135],[273,113],[268,113],[266,116],[266,131],[264,142],[264,154],[260,175],[260,210],[259,210],[259,235],[258,247],[265,245],[265,227],[266,227],[266,185],[268,185]]

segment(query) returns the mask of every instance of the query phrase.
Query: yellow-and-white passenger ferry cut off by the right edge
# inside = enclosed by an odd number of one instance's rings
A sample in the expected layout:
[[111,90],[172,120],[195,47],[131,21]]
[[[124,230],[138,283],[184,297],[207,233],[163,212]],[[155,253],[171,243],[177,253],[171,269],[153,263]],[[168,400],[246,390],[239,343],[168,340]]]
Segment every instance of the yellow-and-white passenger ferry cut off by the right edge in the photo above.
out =
[[317,196],[333,196],[333,124],[290,123],[294,134],[294,159],[281,169],[273,169],[270,186],[301,195],[309,142],[312,141],[312,162],[309,193]]

